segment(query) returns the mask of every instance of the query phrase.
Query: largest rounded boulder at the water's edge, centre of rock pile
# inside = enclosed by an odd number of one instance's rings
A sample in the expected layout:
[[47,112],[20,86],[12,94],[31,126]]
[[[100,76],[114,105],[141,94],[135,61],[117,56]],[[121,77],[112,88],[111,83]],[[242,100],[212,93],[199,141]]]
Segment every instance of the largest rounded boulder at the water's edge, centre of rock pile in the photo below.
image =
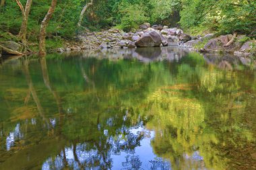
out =
[[160,34],[156,31],[146,32],[135,42],[137,47],[150,47],[150,46],[160,46],[162,44],[162,39]]

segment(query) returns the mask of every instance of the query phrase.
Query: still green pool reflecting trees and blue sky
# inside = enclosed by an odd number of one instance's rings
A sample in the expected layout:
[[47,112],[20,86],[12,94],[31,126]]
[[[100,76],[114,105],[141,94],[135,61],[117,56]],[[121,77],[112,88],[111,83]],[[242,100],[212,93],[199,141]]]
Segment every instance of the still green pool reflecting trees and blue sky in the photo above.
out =
[[173,48],[2,60],[0,169],[256,169],[255,64]]

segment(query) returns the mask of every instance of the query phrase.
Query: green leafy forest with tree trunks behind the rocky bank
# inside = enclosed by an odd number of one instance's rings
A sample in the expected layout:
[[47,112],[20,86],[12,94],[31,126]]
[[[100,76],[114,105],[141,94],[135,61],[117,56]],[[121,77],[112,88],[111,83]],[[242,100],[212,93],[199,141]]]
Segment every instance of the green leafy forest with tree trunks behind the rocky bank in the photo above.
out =
[[[192,35],[256,36],[252,0],[1,0],[0,42],[22,42],[44,53],[79,34],[116,28],[129,32],[148,22]],[[45,41],[45,43],[44,43]],[[244,40],[245,41],[245,40]],[[40,49],[38,46],[40,45]],[[44,46],[45,44],[45,46]]]

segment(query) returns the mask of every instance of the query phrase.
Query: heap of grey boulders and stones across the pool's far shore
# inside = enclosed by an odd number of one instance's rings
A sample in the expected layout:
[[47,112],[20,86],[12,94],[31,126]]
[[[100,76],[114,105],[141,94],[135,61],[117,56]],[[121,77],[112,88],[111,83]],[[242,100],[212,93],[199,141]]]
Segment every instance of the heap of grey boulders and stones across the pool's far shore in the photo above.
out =
[[102,32],[90,32],[78,36],[78,42],[66,43],[59,52],[70,50],[94,50],[97,48],[137,48],[150,46],[173,46],[191,40],[191,36],[184,34],[178,28],[154,25],[149,23],[139,26],[134,32],[121,32],[110,29]]

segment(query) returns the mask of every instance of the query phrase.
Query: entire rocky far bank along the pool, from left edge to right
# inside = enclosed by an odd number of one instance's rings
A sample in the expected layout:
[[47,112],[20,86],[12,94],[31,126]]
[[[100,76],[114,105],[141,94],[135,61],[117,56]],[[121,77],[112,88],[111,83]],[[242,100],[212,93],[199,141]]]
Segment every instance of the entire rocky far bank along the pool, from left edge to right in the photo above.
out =
[[[48,43],[48,44],[47,44]],[[28,48],[22,52],[22,44],[13,40],[2,42],[3,54],[33,54],[35,50]],[[28,44],[33,49],[33,43]],[[141,47],[179,46],[188,50],[209,53],[230,53],[236,56],[255,58],[256,41],[242,34],[206,34],[191,36],[179,28],[142,24],[138,30],[123,32],[115,28],[101,32],[86,32],[72,40],[46,41],[48,52],[69,52],[79,50],[96,50],[100,48],[141,48]]]

